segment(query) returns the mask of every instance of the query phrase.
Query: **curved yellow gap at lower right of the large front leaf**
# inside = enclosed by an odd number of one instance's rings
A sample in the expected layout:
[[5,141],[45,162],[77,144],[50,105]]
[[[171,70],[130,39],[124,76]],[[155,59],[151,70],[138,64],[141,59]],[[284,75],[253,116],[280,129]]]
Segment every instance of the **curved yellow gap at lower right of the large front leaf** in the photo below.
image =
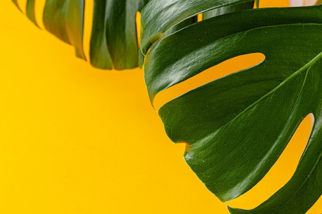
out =
[[291,141],[265,177],[242,196],[227,202],[229,206],[253,209],[269,199],[291,179],[310,137],[312,118],[313,114],[309,114],[302,120]]

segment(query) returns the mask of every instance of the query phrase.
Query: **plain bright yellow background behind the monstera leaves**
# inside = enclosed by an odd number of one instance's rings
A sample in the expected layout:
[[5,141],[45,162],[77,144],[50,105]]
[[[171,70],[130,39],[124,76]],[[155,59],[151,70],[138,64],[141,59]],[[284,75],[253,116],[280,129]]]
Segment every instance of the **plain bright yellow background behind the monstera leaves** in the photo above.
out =
[[[267,6],[288,2],[261,0]],[[0,213],[228,213],[186,165],[184,145],[167,138],[142,70],[92,68],[9,0],[0,6],[0,47]],[[238,64],[247,67],[220,69]],[[287,182],[310,126],[307,118],[267,177],[228,204],[252,208]],[[309,213],[321,211],[320,199]]]

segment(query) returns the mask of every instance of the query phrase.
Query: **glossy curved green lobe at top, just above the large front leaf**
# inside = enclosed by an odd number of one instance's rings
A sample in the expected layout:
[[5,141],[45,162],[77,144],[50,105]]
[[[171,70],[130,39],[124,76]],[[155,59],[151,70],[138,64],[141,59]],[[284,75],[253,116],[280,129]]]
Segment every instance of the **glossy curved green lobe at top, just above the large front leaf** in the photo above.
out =
[[151,45],[172,26],[199,13],[237,5],[252,0],[152,0],[142,9],[141,51],[145,55]]

